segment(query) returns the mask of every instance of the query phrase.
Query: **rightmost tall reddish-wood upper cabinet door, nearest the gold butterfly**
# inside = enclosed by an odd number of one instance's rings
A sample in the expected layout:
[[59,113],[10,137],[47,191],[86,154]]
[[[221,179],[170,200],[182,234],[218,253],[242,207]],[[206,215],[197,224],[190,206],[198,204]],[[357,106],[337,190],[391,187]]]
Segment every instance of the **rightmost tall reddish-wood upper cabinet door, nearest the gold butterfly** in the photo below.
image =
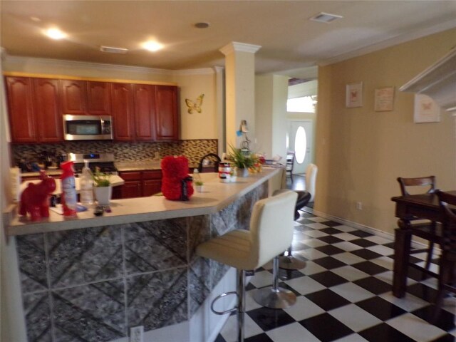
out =
[[178,140],[177,87],[156,86],[155,101],[155,139]]

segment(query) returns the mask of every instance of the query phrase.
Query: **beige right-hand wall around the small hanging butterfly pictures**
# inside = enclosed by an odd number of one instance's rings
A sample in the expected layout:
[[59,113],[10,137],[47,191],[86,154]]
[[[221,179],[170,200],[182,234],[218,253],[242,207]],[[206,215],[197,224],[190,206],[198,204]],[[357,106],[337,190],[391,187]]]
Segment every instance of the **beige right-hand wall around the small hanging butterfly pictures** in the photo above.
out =
[[[318,165],[315,209],[385,232],[396,226],[396,178],[437,176],[437,187],[456,188],[455,128],[413,123],[413,97],[398,88],[445,55],[456,29],[385,48],[318,70]],[[345,107],[346,84],[363,81],[363,107]],[[375,112],[375,88],[395,87],[394,110]],[[356,209],[363,203],[363,210]]]

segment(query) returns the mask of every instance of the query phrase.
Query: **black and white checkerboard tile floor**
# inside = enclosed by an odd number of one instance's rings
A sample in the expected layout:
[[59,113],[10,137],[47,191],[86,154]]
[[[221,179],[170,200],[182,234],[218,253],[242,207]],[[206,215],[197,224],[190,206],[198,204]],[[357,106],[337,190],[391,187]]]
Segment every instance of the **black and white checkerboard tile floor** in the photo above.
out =
[[[289,309],[257,304],[254,289],[271,285],[271,267],[255,272],[247,286],[246,342],[407,342],[455,341],[456,297],[432,325],[437,281],[410,269],[403,299],[391,293],[393,242],[368,232],[301,212],[293,254],[307,261],[299,271],[280,270],[282,287],[296,294]],[[413,254],[414,262],[425,255]],[[436,260],[435,260],[436,261]],[[437,269],[436,264],[432,267]],[[229,317],[216,342],[236,341],[237,324]]]

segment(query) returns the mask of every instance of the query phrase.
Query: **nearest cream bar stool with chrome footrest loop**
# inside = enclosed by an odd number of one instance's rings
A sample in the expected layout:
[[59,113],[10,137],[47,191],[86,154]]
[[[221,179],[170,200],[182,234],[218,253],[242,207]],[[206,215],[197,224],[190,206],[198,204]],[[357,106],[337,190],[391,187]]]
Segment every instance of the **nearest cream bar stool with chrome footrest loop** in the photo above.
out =
[[[197,247],[197,255],[213,259],[237,269],[237,291],[217,296],[212,301],[214,314],[237,311],[238,338],[244,341],[245,271],[257,269],[284,252],[293,239],[293,217],[296,192],[261,199],[254,205],[250,219],[250,230],[236,229],[210,239]],[[277,234],[277,227],[284,227]],[[226,311],[215,311],[214,302],[228,294],[237,294],[237,306]],[[296,298],[295,298],[296,300]]]

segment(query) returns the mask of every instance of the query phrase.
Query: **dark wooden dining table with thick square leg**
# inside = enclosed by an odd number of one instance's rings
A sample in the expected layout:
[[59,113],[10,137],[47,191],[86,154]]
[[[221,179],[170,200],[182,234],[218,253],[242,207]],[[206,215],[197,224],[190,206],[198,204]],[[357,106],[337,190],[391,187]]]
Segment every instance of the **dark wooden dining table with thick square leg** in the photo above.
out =
[[[456,191],[449,191],[456,195]],[[395,202],[395,217],[398,217],[399,228],[395,229],[394,240],[394,269],[393,269],[393,295],[402,298],[407,288],[408,260],[410,257],[410,242],[413,228],[410,224],[412,217],[429,219],[434,222],[442,222],[437,195],[420,194],[392,197]],[[441,232],[436,230],[435,235],[430,237],[432,241],[439,243]]]

